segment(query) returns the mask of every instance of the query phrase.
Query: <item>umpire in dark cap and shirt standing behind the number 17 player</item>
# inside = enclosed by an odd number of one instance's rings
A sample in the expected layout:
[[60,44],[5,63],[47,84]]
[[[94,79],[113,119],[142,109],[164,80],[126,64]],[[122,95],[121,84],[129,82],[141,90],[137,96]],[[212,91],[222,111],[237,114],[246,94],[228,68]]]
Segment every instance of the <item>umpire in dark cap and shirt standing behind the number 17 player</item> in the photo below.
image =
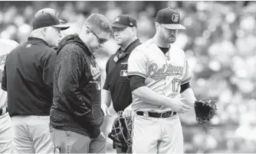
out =
[[[113,101],[113,109],[116,112],[124,111],[132,103],[132,94],[130,91],[130,81],[127,75],[127,60],[130,53],[139,46],[137,39],[136,20],[127,14],[121,14],[113,21],[113,35],[120,48],[110,56],[107,61],[106,73],[107,78],[102,91],[102,104],[104,114],[110,116],[111,100]],[[130,152],[130,149],[117,146],[113,143],[113,148],[117,149],[117,153]]]

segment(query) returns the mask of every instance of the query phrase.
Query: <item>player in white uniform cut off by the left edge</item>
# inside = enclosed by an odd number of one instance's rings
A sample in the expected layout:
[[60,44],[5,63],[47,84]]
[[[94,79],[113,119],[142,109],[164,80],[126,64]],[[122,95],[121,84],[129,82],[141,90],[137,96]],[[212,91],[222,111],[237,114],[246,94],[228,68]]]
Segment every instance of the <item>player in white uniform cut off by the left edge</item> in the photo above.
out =
[[[5,58],[15,47],[18,47],[16,41],[0,39],[0,84],[2,71],[5,66]],[[11,117],[8,114],[7,101],[7,92],[0,89],[0,153],[12,152]]]

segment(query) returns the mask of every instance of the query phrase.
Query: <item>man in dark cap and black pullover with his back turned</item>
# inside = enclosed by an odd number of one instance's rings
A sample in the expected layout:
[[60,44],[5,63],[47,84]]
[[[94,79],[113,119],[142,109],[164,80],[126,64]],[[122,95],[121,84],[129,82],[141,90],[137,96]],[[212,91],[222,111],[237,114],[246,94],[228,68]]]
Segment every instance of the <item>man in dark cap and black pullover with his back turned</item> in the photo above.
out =
[[49,130],[56,47],[68,26],[57,16],[34,18],[31,37],[6,57],[2,89],[8,93],[14,153],[52,153]]

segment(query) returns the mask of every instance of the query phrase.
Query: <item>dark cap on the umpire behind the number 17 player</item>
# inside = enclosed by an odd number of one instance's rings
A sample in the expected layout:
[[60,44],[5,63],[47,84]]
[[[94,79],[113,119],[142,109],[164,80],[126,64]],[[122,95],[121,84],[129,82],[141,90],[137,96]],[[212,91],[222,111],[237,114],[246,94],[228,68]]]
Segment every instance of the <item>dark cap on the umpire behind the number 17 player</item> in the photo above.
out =
[[137,22],[132,16],[121,14],[113,21],[112,27],[137,27]]

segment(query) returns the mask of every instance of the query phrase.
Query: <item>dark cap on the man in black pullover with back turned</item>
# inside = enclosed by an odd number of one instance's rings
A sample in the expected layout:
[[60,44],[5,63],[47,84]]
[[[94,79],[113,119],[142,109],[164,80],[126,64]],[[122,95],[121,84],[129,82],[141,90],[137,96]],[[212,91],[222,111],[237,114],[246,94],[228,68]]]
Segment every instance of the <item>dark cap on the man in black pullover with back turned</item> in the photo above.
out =
[[57,27],[61,30],[66,30],[69,26],[61,24],[56,15],[50,13],[38,14],[32,23],[32,29],[36,30],[41,27]]

